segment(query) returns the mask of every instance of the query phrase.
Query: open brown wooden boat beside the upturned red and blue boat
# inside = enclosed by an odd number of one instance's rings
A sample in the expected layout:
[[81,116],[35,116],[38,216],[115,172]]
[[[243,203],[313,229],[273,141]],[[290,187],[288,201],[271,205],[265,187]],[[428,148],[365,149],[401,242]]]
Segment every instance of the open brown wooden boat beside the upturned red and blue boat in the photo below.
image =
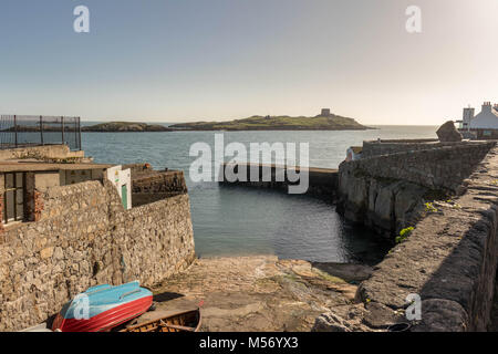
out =
[[128,326],[120,332],[199,332],[200,308]]

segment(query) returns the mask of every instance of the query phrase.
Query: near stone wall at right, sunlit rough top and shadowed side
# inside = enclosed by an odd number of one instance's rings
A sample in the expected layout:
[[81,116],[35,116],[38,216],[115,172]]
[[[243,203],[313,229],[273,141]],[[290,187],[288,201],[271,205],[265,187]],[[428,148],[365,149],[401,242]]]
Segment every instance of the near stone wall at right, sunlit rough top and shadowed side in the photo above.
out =
[[435,204],[406,241],[364,281],[357,299],[372,329],[406,322],[409,293],[422,296],[412,331],[485,331],[498,261],[498,148],[465,180],[466,192]]

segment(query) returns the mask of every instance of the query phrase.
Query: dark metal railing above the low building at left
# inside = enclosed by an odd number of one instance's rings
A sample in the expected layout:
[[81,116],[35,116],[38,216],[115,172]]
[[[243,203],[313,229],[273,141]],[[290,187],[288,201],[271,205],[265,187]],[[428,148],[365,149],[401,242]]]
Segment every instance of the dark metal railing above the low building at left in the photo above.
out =
[[80,117],[2,115],[0,149],[65,144],[81,150]]

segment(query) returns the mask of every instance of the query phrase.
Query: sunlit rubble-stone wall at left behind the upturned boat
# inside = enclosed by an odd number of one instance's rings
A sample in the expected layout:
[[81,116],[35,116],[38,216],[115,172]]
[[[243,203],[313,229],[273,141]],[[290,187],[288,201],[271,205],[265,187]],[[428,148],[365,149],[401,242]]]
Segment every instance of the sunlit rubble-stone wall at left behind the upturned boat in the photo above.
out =
[[108,181],[86,181],[34,199],[39,221],[0,233],[1,331],[46,320],[91,285],[152,285],[195,257],[186,194],[124,210]]

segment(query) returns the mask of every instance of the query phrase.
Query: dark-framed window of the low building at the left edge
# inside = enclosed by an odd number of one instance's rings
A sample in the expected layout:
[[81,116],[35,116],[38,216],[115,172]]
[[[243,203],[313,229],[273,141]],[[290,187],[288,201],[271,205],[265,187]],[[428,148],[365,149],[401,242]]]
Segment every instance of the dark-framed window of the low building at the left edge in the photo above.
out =
[[3,175],[3,222],[24,220],[25,174],[8,173]]

